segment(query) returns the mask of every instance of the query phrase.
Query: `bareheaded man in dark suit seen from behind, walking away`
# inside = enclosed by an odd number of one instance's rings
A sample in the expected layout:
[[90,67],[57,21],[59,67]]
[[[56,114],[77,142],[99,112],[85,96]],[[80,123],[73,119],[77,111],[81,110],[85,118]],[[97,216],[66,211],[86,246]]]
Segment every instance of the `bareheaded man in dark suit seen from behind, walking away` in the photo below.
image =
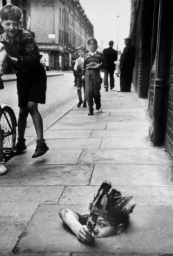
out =
[[104,70],[104,88],[105,92],[108,91],[108,75],[110,78],[110,89],[114,87],[114,71],[115,71],[115,64],[114,61],[117,60],[117,54],[118,52],[114,50],[113,48],[113,41],[109,42],[109,48],[106,48],[103,50],[103,53],[105,55],[105,60],[106,60],[106,68]]

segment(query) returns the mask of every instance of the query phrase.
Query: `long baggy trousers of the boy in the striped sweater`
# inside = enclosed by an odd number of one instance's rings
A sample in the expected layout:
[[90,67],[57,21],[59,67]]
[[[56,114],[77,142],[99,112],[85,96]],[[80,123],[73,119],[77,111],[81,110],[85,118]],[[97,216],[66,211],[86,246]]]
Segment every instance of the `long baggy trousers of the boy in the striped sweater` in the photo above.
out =
[[[100,71],[86,70],[85,72],[85,95],[88,102],[89,111],[93,111],[94,102],[100,103]],[[94,102],[93,102],[94,98]]]

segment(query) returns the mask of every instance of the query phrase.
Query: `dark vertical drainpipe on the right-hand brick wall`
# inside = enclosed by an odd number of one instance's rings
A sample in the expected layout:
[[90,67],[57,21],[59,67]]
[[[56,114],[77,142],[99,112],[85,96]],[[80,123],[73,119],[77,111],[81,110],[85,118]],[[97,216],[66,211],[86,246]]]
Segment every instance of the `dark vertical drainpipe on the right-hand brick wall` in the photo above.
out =
[[157,31],[157,49],[156,49],[156,74],[154,90],[154,133],[153,145],[161,146],[165,134],[165,100],[168,85],[166,83],[168,67],[168,30],[169,21],[166,5],[163,0],[159,1],[159,19]]

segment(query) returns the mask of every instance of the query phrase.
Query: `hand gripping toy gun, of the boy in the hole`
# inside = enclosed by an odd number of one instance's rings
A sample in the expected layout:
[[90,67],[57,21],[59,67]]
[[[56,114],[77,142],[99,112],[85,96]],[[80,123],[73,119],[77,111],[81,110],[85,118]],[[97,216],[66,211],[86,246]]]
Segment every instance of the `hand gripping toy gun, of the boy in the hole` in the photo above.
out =
[[77,239],[85,244],[92,244],[95,237],[92,236],[86,225],[83,225],[78,232],[76,232]]

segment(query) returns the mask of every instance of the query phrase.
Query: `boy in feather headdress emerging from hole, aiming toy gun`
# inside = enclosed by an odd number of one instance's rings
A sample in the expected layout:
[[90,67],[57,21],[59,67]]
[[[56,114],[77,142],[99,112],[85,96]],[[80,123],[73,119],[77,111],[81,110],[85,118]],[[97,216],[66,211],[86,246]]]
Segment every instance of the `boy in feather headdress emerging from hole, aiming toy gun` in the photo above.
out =
[[136,205],[129,204],[132,197],[122,196],[105,180],[89,205],[90,215],[80,215],[66,208],[61,209],[59,215],[79,241],[91,244],[95,238],[114,236],[127,228],[129,214]]

